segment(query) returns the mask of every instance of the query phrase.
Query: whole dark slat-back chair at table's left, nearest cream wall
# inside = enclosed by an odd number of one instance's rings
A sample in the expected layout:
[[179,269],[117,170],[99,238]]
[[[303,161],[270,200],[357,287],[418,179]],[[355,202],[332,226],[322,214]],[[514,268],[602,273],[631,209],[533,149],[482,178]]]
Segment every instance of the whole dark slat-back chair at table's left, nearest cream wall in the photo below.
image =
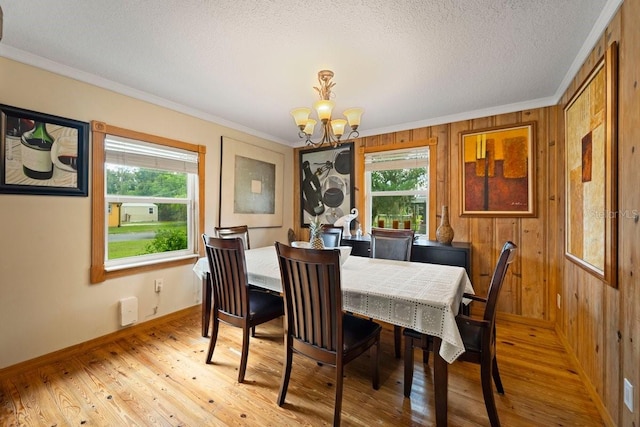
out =
[[244,381],[249,355],[249,332],[255,326],[284,315],[284,302],[278,295],[249,288],[242,238],[221,239],[202,236],[204,240],[211,282],[213,323],[207,363],[212,363],[220,322],[242,328],[242,352],[238,382]]

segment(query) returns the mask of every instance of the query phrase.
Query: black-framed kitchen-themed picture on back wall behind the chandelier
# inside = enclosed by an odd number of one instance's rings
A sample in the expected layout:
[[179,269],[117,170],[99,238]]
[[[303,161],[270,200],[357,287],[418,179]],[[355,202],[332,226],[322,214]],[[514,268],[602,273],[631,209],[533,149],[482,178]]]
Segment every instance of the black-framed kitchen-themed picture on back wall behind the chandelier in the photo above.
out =
[[300,226],[333,224],[355,207],[353,142],[300,151]]

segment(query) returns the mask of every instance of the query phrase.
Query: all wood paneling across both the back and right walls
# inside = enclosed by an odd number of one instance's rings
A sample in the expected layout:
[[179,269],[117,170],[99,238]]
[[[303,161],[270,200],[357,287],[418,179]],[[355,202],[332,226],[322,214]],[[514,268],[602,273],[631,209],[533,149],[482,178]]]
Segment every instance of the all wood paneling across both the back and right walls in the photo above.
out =
[[[503,242],[513,240],[518,258],[500,296],[504,313],[555,325],[608,425],[640,426],[640,0],[625,0],[605,34],[557,106],[361,138],[356,146],[402,148],[437,138],[436,206],[449,205],[457,241],[473,245],[476,292],[486,292]],[[564,257],[563,109],[612,41],[619,45],[618,73],[618,288],[607,286]],[[459,216],[459,133],[536,122],[535,218]],[[358,156],[364,150],[357,150]],[[294,156],[297,162],[298,154]],[[298,176],[296,170],[296,175]],[[363,172],[356,170],[356,194]],[[299,194],[299,188],[296,188]],[[356,197],[361,200],[361,197]],[[299,197],[295,198],[299,212]],[[358,206],[364,212],[364,206]],[[439,222],[439,209],[437,218]],[[294,215],[294,218],[298,218]],[[306,230],[296,224],[298,237]],[[556,295],[560,295],[560,308]],[[634,386],[634,411],[623,402],[623,378]]]

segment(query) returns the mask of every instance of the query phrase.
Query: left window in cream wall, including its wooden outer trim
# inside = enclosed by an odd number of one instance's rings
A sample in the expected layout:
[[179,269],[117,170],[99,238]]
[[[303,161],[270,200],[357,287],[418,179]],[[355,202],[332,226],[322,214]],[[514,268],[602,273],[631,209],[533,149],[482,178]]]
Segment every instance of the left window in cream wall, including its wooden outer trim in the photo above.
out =
[[205,147],[93,122],[91,282],[191,263]]

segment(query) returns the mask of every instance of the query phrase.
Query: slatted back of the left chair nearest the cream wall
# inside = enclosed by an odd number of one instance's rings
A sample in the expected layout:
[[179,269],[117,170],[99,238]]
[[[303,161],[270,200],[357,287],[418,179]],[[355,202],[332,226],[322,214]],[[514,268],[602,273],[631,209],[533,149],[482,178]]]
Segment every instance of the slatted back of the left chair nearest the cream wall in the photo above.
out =
[[242,238],[202,238],[211,272],[214,309],[248,318],[249,288]]

